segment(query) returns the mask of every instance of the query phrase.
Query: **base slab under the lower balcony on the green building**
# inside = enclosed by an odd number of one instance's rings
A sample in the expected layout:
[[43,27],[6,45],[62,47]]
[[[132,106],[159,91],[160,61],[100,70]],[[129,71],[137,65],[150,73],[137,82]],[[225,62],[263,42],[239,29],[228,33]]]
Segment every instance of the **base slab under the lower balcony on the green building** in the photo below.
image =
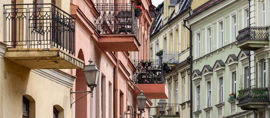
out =
[[269,102],[243,102],[237,104],[242,110],[258,110],[260,108],[265,108],[265,105],[269,104]]

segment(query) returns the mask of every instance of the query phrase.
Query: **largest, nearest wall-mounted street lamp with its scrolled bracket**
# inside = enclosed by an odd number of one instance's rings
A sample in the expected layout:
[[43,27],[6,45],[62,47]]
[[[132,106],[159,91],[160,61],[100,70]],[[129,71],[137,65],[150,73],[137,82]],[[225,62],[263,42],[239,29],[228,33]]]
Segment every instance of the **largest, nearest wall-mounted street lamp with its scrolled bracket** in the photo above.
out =
[[[85,69],[83,70],[84,75],[85,75],[85,79],[86,79],[86,83],[87,86],[90,88],[90,91],[76,91],[76,92],[72,92],[70,89],[70,103],[72,102],[71,100],[71,94],[72,93],[82,93],[82,92],[88,92],[87,94],[91,93],[92,97],[93,97],[93,89],[94,87],[97,86],[97,80],[99,78],[99,70],[97,69],[97,66],[95,64],[93,64],[93,60],[90,59],[88,60],[90,63],[89,65],[85,66]],[[87,95],[86,94],[86,95]],[[86,96],[84,95],[84,96]],[[84,96],[82,96],[81,98],[83,98]],[[80,100],[81,98],[79,98],[78,100]],[[78,100],[76,100],[75,102],[77,102]],[[75,103],[73,102],[73,103]],[[72,107],[72,104],[70,104],[70,107]]]

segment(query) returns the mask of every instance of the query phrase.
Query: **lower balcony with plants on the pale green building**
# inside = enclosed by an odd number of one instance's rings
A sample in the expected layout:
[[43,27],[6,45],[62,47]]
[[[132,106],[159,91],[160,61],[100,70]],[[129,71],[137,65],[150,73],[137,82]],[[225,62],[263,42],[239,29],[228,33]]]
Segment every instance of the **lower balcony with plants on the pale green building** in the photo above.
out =
[[239,91],[238,104],[242,110],[257,110],[269,104],[267,88],[247,88]]

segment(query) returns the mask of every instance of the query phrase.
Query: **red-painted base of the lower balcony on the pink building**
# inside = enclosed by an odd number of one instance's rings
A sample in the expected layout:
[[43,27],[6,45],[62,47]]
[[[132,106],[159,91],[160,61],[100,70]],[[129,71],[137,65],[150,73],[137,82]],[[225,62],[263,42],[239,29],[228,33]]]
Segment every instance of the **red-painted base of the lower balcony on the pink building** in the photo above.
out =
[[[140,90],[143,90],[148,99],[168,99],[168,89],[165,84],[136,84]],[[140,94],[138,89],[134,94]]]

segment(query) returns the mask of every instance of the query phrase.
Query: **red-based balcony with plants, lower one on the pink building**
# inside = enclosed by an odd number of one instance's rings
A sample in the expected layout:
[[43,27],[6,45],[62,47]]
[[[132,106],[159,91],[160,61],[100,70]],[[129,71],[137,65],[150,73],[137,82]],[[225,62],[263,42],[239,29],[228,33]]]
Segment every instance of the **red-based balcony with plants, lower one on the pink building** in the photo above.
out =
[[[144,91],[148,99],[168,99],[168,89],[165,85],[165,71],[161,60],[133,60],[136,73],[133,81]],[[140,93],[136,89],[135,93]]]

